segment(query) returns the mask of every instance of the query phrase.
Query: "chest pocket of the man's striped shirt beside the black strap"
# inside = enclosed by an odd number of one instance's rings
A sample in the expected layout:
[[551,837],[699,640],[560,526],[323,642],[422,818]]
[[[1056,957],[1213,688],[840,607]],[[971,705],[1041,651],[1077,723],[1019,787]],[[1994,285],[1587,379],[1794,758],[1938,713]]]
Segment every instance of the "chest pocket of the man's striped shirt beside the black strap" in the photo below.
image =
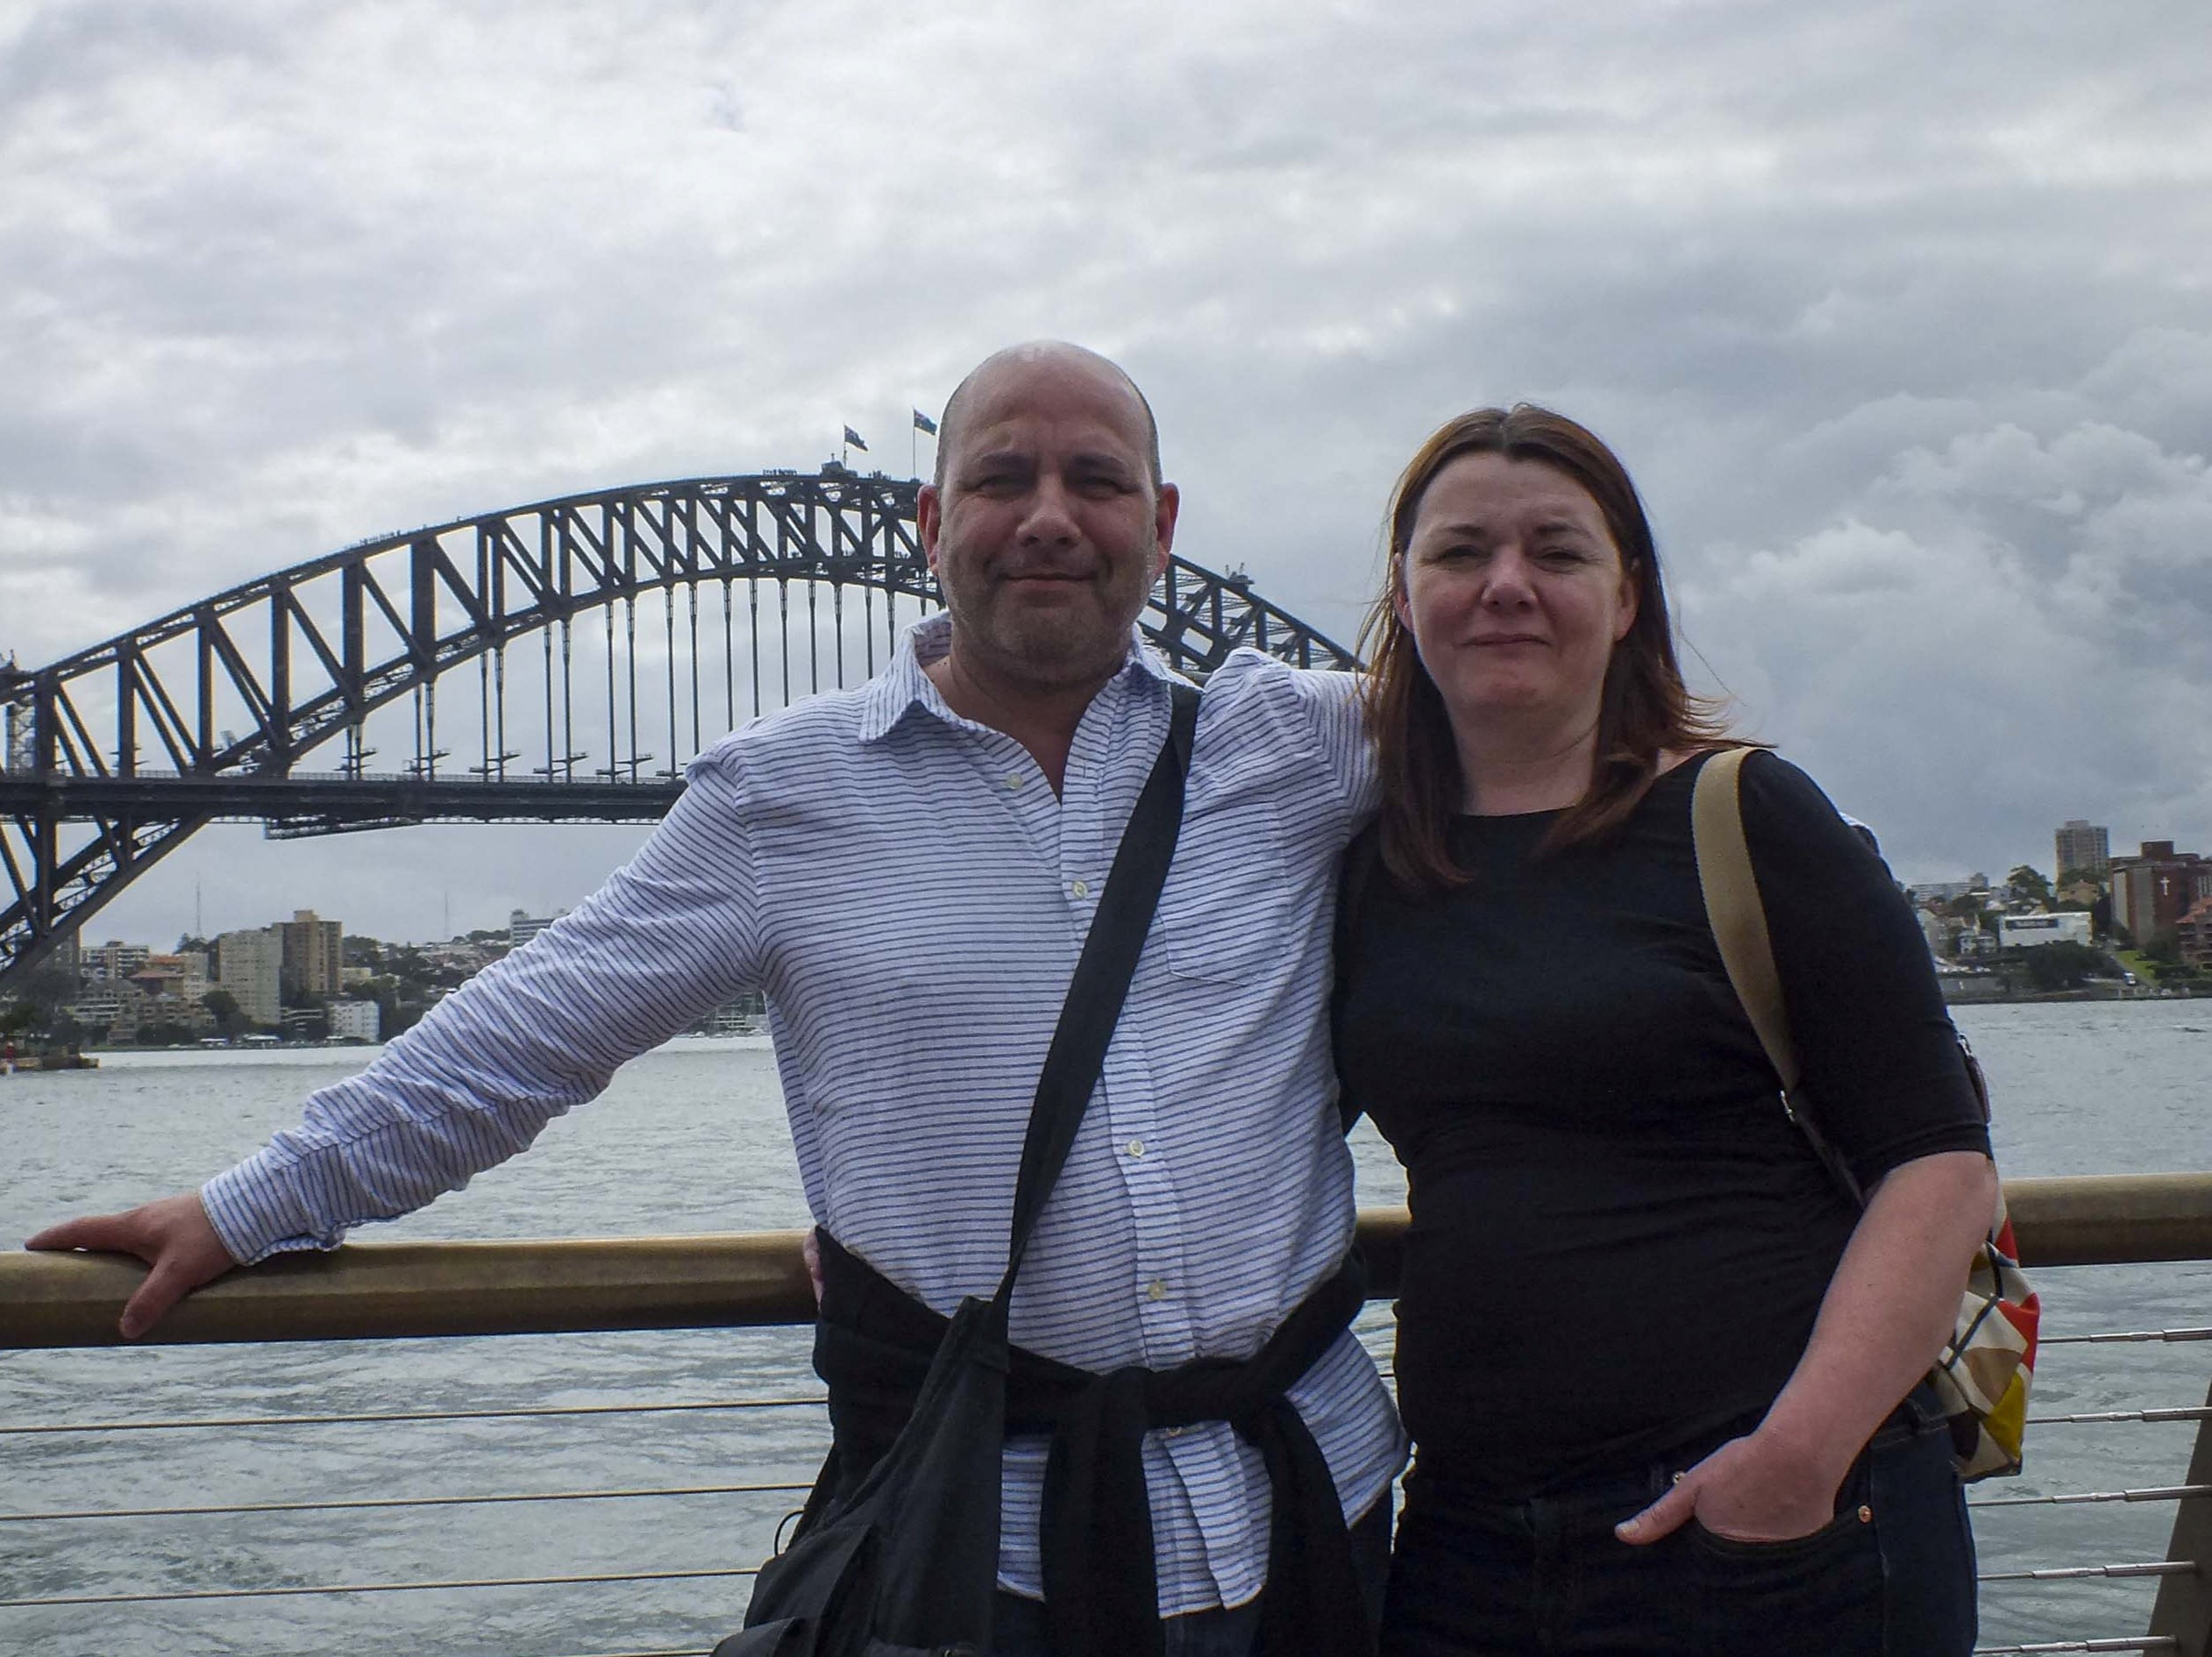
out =
[[1274,801],[1194,799],[1159,896],[1168,969],[1201,984],[1252,984],[1287,971],[1303,947],[1292,925],[1310,880],[1292,867]]

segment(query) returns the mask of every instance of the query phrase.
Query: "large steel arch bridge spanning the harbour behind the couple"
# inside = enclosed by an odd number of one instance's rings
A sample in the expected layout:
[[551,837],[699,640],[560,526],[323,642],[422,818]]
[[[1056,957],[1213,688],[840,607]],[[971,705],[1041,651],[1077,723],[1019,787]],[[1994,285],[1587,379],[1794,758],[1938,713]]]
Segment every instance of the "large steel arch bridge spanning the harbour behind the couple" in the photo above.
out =
[[[938,608],[920,484],[635,484],[347,546],[42,668],[0,666],[0,993],[195,830],[650,823],[743,719],[860,684]],[[1206,673],[1352,650],[1172,557],[1141,622]]]

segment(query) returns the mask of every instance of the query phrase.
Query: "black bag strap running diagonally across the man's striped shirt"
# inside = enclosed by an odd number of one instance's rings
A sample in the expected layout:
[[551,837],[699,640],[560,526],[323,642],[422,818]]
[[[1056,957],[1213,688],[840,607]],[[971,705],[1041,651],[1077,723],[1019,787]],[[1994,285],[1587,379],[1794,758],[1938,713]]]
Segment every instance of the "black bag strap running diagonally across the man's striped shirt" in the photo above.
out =
[[1137,973],[1137,956],[1152,929],[1159,889],[1168,883],[1175,858],[1175,836],[1183,827],[1183,779],[1190,772],[1190,741],[1199,728],[1199,692],[1170,684],[1168,741],[1159,746],[1152,774],[1137,794],[1137,805],[1121,830],[1106,889],[1099,894],[1091,936],[1075,960],[1068,998],[1060,1007],[1053,1044],[1037,1073],[1037,1097],[1029,1106],[1029,1137],[1022,1142],[1022,1173],[1013,1186],[1013,1234],[1006,1246],[1006,1276],[993,1301],[1004,1307],[1013,1299],[1013,1276],[1022,1270],[1029,1237],[1037,1228],[1060,1170],[1075,1146],[1091,1091],[1106,1064],[1106,1044],[1128,1000],[1128,982]]

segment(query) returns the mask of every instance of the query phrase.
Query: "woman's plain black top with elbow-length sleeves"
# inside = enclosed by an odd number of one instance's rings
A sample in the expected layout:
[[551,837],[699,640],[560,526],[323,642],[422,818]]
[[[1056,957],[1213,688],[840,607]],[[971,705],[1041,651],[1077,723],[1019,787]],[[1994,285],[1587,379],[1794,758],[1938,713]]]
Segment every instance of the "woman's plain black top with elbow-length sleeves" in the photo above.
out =
[[[1427,1473],[1520,1500],[1756,1416],[1856,1210],[1783,1115],[1705,923],[1703,761],[1617,836],[1464,816],[1447,896],[1354,845],[1336,1062],[1411,1184],[1398,1403]],[[1920,927],[1805,772],[1741,777],[1805,1093],[1863,1186],[1989,1150]],[[1369,830],[1369,836],[1374,830]]]

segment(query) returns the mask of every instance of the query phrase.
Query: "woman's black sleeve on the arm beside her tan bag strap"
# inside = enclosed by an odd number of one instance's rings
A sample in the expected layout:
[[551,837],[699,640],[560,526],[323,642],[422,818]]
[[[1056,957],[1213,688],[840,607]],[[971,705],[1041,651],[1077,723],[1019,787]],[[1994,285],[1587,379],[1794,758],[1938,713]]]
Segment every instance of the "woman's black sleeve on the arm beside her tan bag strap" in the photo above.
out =
[[1743,834],[1820,1130],[1863,1188],[1989,1128],[1911,905],[1814,781],[1776,754],[1743,765]]

